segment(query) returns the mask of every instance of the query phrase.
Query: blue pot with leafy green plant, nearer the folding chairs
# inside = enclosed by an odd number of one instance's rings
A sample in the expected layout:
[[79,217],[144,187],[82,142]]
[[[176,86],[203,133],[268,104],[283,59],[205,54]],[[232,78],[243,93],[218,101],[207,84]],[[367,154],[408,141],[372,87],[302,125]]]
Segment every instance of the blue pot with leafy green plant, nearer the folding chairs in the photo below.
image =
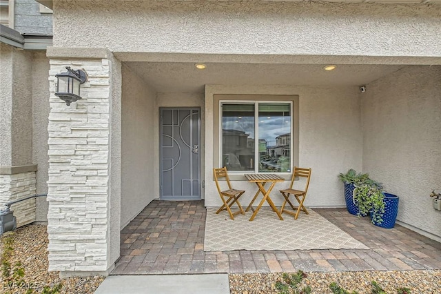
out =
[[352,215],[360,215],[358,207],[355,204],[356,187],[369,186],[382,188],[381,184],[371,179],[368,173],[357,173],[353,168],[349,169],[347,173],[338,174],[338,179],[345,184],[346,207]]

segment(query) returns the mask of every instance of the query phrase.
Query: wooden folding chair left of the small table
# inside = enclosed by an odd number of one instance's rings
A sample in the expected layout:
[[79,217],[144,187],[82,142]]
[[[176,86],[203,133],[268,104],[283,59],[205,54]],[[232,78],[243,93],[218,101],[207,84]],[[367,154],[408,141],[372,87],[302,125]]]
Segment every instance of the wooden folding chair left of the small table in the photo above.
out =
[[[224,166],[223,168],[213,168],[214,180],[216,181],[216,187],[218,188],[220,199],[222,199],[223,206],[216,211],[216,215],[220,213],[222,210],[227,210],[229,213],[229,217],[234,220],[234,215],[238,215],[239,213],[245,215],[245,211],[243,211],[242,206],[240,206],[239,197],[245,193],[244,190],[236,190],[232,188],[232,185],[229,183],[229,177],[227,173],[227,168]],[[218,179],[225,177],[228,185],[228,190],[221,190],[219,186]],[[236,212],[232,212],[231,207],[233,204],[237,204],[239,210]]]

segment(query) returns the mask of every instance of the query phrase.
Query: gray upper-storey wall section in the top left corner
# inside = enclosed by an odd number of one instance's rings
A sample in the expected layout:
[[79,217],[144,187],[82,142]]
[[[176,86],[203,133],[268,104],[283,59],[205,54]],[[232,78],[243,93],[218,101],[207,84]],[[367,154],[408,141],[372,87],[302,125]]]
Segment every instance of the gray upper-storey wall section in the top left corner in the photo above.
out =
[[34,0],[15,0],[14,30],[24,35],[52,35],[52,14],[40,13]]

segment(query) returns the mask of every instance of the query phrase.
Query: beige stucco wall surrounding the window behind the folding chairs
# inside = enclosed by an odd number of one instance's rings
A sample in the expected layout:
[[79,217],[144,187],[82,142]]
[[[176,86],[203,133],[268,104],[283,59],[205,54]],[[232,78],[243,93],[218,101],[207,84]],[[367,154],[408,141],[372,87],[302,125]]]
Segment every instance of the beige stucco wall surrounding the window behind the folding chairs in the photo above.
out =
[[[214,94],[298,95],[299,150],[298,165],[312,168],[311,183],[305,203],[308,206],[344,206],[345,199],[338,173],[362,167],[362,135],[360,97],[356,87],[306,86],[218,86],[205,88],[205,205],[220,206],[212,168],[215,148],[212,124]],[[218,167],[218,166],[216,166]],[[245,179],[245,178],[244,178]],[[241,202],[251,201],[257,186],[234,181],[235,188],[245,190]],[[289,182],[276,184],[273,200],[282,202],[280,188]]]

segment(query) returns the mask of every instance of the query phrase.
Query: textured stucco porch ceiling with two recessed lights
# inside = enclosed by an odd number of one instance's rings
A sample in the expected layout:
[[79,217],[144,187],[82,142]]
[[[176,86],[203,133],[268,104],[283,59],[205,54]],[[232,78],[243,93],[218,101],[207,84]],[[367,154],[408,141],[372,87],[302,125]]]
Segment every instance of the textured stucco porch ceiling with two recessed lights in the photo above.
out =
[[338,65],[323,70],[322,64],[125,62],[158,92],[203,92],[205,84],[360,86],[396,72],[404,65]]

